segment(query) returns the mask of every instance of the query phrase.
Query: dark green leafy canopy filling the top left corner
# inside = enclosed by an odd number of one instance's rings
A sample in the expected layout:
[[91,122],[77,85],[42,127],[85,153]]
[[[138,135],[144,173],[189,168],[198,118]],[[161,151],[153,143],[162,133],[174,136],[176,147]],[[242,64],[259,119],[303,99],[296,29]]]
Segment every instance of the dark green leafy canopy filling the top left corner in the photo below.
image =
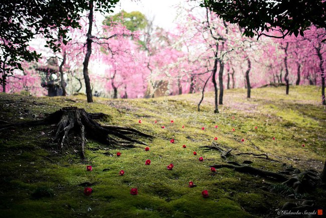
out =
[[[91,0],[92,1],[92,0]],[[60,50],[62,43],[70,40],[68,27],[80,28],[82,13],[88,11],[85,0],[21,0],[0,4],[0,83],[6,83],[6,77],[15,69],[21,69],[21,62],[38,60],[40,54],[29,49],[29,42],[36,35],[47,39],[47,46],[54,52]],[[119,0],[97,0],[95,11],[113,12],[112,7]],[[54,34],[54,32],[56,34]]]

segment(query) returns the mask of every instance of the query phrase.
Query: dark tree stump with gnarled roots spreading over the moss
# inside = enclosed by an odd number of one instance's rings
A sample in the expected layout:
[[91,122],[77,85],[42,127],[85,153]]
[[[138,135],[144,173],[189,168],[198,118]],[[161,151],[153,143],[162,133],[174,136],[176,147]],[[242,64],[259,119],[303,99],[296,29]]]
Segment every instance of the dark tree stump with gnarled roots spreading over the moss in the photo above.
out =
[[[109,146],[134,147],[133,144],[146,145],[145,143],[132,139],[126,135],[135,134],[143,137],[152,137],[138,130],[118,126],[101,126],[93,121],[93,119],[104,118],[105,114],[90,114],[85,112],[83,108],[64,107],[48,115],[45,119],[39,121],[27,121],[16,124],[6,124],[0,126],[0,131],[12,127],[33,127],[39,125],[57,124],[54,140],[63,149],[68,143],[68,134],[71,132],[79,133],[81,157],[85,157],[85,136],[93,140]],[[119,141],[123,140],[123,141]]]

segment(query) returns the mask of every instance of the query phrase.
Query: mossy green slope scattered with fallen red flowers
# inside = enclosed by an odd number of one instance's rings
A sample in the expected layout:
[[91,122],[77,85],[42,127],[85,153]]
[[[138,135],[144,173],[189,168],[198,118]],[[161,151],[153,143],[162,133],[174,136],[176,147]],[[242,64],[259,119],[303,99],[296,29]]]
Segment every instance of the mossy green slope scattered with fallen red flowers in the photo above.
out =
[[[266,188],[260,177],[230,169],[212,173],[208,166],[221,164],[220,154],[204,152],[200,146],[211,145],[214,137],[218,137],[217,142],[234,149],[233,153],[266,153],[279,161],[248,156],[231,158],[239,163],[251,160],[252,166],[272,171],[281,170],[282,163],[320,171],[326,156],[326,113],[319,95],[318,87],[314,86],[291,87],[288,96],[283,87],[253,89],[251,99],[246,99],[244,89],[227,90],[220,114],[213,114],[213,93],[206,94],[200,113],[199,94],[156,99],[95,98],[91,104],[85,102],[85,96],[36,98],[0,94],[0,120],[32,120],[33,116],[41,118],[44,113],[63,106],[78,106],[87,112],[110,115],[103,123],[133,127],[155,136],[152,141],[141,139],[149,145],[148,152],[144,146],[106,150],[105,146],[89,141],[87,147],[93,149],[87,150],[87,159],[81,161],[71,150],[64,156],[54,152],[57,147],[50,140],[54,127],[2,132],[0,214],[4,217],[275,216],[276,208],[295,200],[279,194],[277,188]],[[25,109],[29,112],[24,113]],[[171,120],[175,123],[171,124]],[[163,125],[165,129],[160,128]],[[172,138],[175,144],[170,143]],[[184,144],[186,149],[182,148]],[[120,157],[103,154],[117,151],[122,153]],[[198,161],[200,156],[204,162]],[[146,159],[151,160],[151,165],[145,166]],[[172,171],[166,168],[170,163],[175,165]],[[92,165],[93,171],[86,172],[86,165]],[[121,169],[124,176],[118,175]],[[189,188],[190,180],[197,187]],[[86,181],[95,183],[91,196],[85,196],[83,187],[77,186]],[[137,187],[139,194],[131,195],[131,187]],[[52,197],[34,198],[33,193],[40,188]],[[207,199],[201,196],[204,189],[210,194]],[[317,201],[323,200],[318,197]]]

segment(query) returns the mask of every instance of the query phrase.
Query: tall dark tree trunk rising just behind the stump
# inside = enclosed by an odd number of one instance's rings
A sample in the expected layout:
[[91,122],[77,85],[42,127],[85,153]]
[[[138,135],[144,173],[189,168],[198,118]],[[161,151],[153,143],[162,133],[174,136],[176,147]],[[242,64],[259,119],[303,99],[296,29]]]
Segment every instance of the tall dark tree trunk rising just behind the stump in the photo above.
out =
[[85,55],[84,59],[84,68],[83,68],[83,74],[84,74],[84,79],[85,79],[85,86],[86,86],[86,96],[87,96],[87,102],[93,102],[93,96],[92,96],[92,89],[91,89],[91,83],[89,80],[88,76],[88,63],[89,63],[89,58],[91,57],[92,54],[92,26],[93,26],[93,1],[91,0],[89,2],[89,15],[88,15],[88,32],[87,32],[87,40],[86,40],[86,45],[87,45],[87,52]]

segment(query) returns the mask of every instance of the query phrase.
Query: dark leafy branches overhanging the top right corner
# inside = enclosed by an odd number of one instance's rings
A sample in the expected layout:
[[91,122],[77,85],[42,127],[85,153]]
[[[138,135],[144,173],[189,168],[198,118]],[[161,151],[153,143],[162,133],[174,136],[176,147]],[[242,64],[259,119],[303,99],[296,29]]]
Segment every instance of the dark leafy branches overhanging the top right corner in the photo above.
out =
[[[201,6],[224,21],[238,24],[248,37],[303,36],[311,25],[326,28],[326,1],[323,0],[201,0]],[[280,35],[268,34],[270,30]]]

